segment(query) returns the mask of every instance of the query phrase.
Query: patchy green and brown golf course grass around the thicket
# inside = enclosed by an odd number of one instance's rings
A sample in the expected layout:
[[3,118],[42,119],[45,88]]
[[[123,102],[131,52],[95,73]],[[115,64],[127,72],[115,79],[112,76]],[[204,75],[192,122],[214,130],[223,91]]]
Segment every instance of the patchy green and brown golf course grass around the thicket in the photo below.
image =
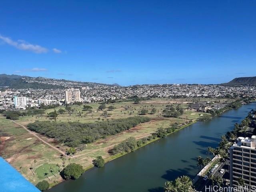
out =
[[[218,102],[218,100],[211,99],[211,101]],[[221,102],[230,102],[229,100],[222,99]],[[108,154],[108,150],[113,148],[115,144],[118,144],[124,141],[128,137],[135,137],[137,139],[146,137],[156,131],[157,128],[164,127],[167,128],[168,126],[178,123],[178,124],[185,124],[188,120],[196,120],[200,117],[200,114],[207,115],[206,113],[194,112],[190,110],[185,110],[185,113],[178,118],[164,118],[162,116],[162,110],[168,104],[180,104],[184,109],[188,107],[188,103],[191,102],[187,99],[152,99],[152,100],[145,100],[140,102],[140,104],[134,104],[133,102],[120,102],[114,104],[106,104],[106,107],[113,105],[115,107],[112,111],[107,111],[109,113],[108,119],[120,119],[120,118],[127,118],[130,116],[138,116],[138,112],[141,109],[147,109],[149,112],[152,108],[156,108],[155,114],[146,114],[152,118],[150,122],[146,122],[140,124],[130,130],[121,132],[119,134],[108,136],[104,139],[99,139],[96,142],[87,144],[86,149],[82,151],[78,151],[75,154],[74,158],[68,159],[61,159],[60,153],[53,148],[50,148],[48,145],[42,143],[32,134],[29,134],[24,128],[14,124],[12,121],[7,120],[4,116],[0,116],[0,133],[2,136],[7,136],[9,139],[3,141],[0,144],[0,155],[5,158],[8,162],[12,164],[20,173],[22,173],[30,182],[36,184],[42,180],[50,179],[51,185],[54,185],[60,181],[62,178],[58,174],[58,168],[56,164],[66,166],[69,163],[79,163],[84,168],[92,167],[92,160],[96,158],[96,156],[102,156],[106,160],[111,160],[112,158]],[[107,118],[102,116],[102,110],[98,110],[99,103],[92,103],[87,104],[91,106],[92,113],[87,113],[87,111],[83,110],[83,105],[81,106],[74,106],[72,105],[72,109],[74,109],[74,113],[68,113],[66,111],[64,114],[59,114],[57,121],[58,122],[83,122],[83,123],[90,123],[98,121],[106,120]],[[65,106],[59,106],[55,108],[57,111],[62,108],[65,109]],[[107,110],[106,108],[106,110]],[[16,122],[27,125],[30,122],[34,122],[36,120],[39,121],[46,121],[50,119],[47,117],[47,113],[53,112],[54,109],[46,110],[46,114],[43,116],[38,115],[30,115],[20,117],[19,120]],[[54,141],[54,139],[46,138],[45,136],[40,136],[42,139],[47,141],[48,143],[60,148],[61,150],[65,151],[66,146]],[[36,163],[34,163],[36,160]],[[53,170],[53,174],[50,172],[50,166]],[[32,168],[32,170],[30,169]],[[33,174],[34,172],[34,174]],[[47,177],[45,175],[47,173]],[[54,176],[56,175],[56,176]]]

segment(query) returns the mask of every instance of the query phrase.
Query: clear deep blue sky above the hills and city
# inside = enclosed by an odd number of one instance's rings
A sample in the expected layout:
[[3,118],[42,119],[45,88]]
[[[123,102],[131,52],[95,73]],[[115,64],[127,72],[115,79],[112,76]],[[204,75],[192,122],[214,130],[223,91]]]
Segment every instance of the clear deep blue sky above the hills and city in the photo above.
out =
[[0,73],[131,84],[256,76],[256,1],[2,1]]

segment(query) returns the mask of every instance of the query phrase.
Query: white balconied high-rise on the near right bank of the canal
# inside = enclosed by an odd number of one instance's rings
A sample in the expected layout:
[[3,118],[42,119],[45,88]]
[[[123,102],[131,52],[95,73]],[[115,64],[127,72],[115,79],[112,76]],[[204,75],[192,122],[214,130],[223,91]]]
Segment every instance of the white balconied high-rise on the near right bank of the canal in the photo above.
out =
[[256,136],[239,137],[230,147],[230,187],[238,187],[238,178],[246,186],[256,186]]

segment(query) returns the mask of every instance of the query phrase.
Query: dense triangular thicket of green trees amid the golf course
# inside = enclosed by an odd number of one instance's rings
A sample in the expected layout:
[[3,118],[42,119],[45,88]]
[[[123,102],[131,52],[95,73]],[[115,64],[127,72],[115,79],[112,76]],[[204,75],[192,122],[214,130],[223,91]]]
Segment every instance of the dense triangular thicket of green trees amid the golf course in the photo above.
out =
[[55,138],[67,146],[76,147],[129,130],[149,120],[148,117],[136,116],[95,123],[36,121],[28,124],[28,129]]

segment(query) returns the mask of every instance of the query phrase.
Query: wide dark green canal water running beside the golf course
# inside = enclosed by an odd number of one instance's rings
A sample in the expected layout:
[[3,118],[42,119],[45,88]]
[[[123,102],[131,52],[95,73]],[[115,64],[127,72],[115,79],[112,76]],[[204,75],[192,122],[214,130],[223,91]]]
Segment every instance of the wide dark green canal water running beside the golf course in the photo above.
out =
[[162,192],[167,180],[198,172],[197,156],[206,157],[209,146],[216,147],[220,136],[233,130],[256,103],[229,110],[207,122],[197,122],[174,134],[152,142],[93,168],[78,180],[68,180],[48,192]]

